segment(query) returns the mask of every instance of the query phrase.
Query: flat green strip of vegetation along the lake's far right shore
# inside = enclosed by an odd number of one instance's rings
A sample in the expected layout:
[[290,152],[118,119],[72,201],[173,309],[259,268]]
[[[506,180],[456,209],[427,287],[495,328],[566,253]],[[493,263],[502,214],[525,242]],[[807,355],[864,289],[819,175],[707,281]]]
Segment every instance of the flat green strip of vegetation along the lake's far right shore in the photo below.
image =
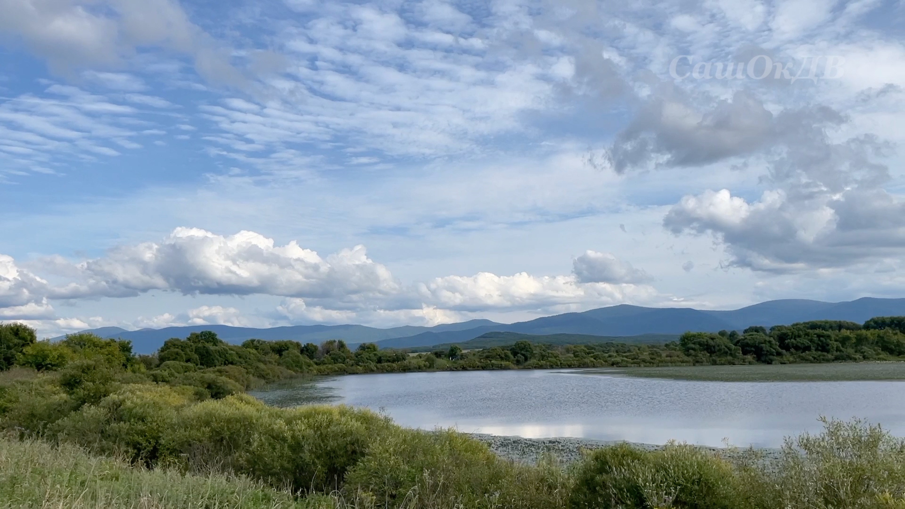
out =
[[672,368],[603,368],[587,375],[703,381],[857,381],[905,380],[905,362],[845,362]]

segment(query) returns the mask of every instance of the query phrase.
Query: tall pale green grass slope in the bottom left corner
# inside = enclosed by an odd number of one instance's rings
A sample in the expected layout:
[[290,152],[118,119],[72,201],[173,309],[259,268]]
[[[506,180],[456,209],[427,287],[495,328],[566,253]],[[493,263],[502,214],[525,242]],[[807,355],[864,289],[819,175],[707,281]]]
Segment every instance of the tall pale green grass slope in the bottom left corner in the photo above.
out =
[[80,447],[0,438],[0,507],[290,509],[332,507],[234,475],[185,475],[91,456]]

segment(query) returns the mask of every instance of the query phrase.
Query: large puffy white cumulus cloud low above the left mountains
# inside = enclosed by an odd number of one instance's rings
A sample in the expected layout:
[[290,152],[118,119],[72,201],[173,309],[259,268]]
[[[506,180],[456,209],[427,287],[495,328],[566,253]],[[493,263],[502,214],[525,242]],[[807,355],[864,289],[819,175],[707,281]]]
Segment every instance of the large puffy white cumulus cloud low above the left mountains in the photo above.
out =
[[183,227],[159,243],[119,246],[104,257],[73,264],[69,272],[80,281],[56,288],[53,298],[171,290],[342,299],[398,288],[392,274],[370,260],[362,245],[321,258],[295,241],[274,245],[254,232],[224,236]]

